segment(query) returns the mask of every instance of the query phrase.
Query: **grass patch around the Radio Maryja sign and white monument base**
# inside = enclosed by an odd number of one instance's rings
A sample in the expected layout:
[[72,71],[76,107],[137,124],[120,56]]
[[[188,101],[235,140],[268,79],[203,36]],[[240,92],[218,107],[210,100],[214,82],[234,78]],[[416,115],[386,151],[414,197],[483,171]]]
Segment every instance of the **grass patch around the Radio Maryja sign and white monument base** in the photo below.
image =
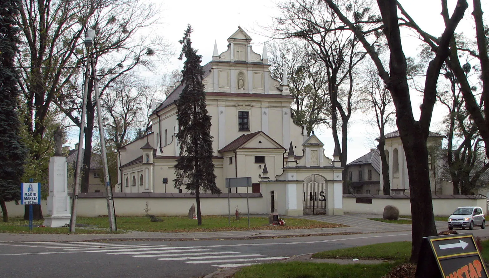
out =
[[[44,220],[32,221],[33,229],[29,230],[29,220],[23,218],[9,218],[9,222],[0,221],[0,233],[13,234],[69,234],[69,228],[50,228],[38,227],[43,225]],[[84,227],[76,227],[77,234],[110,234],[105,230],[84,229]],[[121,233],[121,232],[120,232]]]

